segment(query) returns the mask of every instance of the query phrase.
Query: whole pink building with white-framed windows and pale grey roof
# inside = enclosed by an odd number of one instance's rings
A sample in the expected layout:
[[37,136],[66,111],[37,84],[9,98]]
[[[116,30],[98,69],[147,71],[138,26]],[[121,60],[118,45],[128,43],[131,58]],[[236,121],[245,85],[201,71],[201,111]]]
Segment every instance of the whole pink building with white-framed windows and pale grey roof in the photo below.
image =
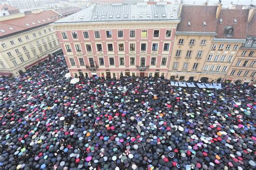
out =
[[73,77],[167,76],[179,5],[96,5],[54,23]]

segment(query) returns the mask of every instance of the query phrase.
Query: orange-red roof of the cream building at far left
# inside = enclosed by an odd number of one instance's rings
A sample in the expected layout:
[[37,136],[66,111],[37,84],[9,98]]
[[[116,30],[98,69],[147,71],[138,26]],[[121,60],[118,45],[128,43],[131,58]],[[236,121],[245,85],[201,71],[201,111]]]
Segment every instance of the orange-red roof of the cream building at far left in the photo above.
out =
[[[58,18],[56,18],[56,16],[58,16]],[[55,19],[52,19],[51,17],[54,17]],[[1,25],[0,30],[4,30],[5,32],[0,31],[0,38],[8,34],[29,30],[33,27],[38,27],[44,24],[49,24],[49,23],[55,22],[58,19],[60,19],[59,14],[49,10],[49,11],[43,11],[41,13],[32,13],[30,15],[25,15],[24,17],[3,20],[3,21],[0,21],[0,25]],[[38,21],[40,23],[38,23]],[[35,23],[35,25],[32,23]],[[29,26],[26,24],[29,24]],[[10,27],[13,30],[10,29]]]

